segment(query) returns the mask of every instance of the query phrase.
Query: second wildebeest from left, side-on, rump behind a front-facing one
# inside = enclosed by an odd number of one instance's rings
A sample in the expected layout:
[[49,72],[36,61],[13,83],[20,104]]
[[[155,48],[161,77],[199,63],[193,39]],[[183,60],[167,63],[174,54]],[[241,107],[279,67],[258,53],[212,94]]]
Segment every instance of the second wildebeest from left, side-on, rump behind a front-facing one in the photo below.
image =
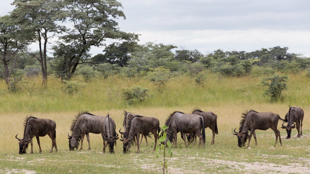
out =
[[88,113],[87,111],[79,112],[75,119],[71,123],[70,130],[72,131],[72,135],[70,136],[68,133],[69,139],[69,150],[74,151],[74,148],[78,150],[79,141],[81,141],[81,148],[83,149],[83,140],[86,135],[88,141],[88,150],[91,149],[91,144],[89,142],[89,134],[100,134],[99,123],[102,120],[102,116],[93,115]]

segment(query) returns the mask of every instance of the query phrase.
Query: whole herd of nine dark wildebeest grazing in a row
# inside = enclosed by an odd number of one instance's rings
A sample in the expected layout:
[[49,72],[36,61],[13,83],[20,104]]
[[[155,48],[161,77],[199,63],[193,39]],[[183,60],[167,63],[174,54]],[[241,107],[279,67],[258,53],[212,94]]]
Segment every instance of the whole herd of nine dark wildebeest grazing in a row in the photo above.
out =
[[[272,129],[276,135],[276,143],[279,138],[280,144],[282,146],[280,131],[277,130],[277,125],[279,119],[283,121],[281,128],[286,129],[287,137],[291,137],[291,130],[296,127],[298,131],[297,137],[302,135],[302,126],[303,126],[303,115],[304,112],[301,108],[290,107],[284,119],[282,119],[278,114],[272,112],[256,112],[255,110],[249,110],[245,113],[242,113],[240,126],[238,132],[236,128],[234,132],[238,138],[238,146],[245,146],[247,139],[249,139],[248,146],[250,145],[250,140],[252,135],[255,139],[255,145],[257,145],[255,130],[267,130]],[[286,125],[284,125],[287,123]],[[209,127],[212,130],[212,140],[211,144],[214,144],[215,134],[218,134],[217,127],[217,115],[213,112],[203,112],[200,109],[195,109],[192,114],[185,114],[183,112],[175,111],[170,114],[166,119],[165,125],[168,126],[166,129],[166,141],[175,143],[177,146],[177,133],[181,133],[181,138],[184,140],[186,147],[188,142],[196,142],[196,138],[199,138],[199,147],[204,147],[206,135],[205,128]],[[39,145],[40,153],[42,152],[40,146],[39,137],[48,136],[52,140],[51,151],[56,145],[56,123],[50,119],[41,119],[36,117],[26,117],[24,120],[24,136],[22,139],[17,138],[19,141],[19,154],[25,154],[26,149],[28,148],[29,143],[31,143],[31,152],[33,153],[33,137],[37,138]],[[121,128],[122,129],[122,128]],[[123,153],[129,152],[131,144],[135,143],[137,146],[137,153],[140,152],[139,144],[141,144],[143,137],[145,138],[146,144],[147,137],[150,137],[149,133],[154,135],[156,149],[157,139],[159,139],[160,126],[159,120],[155,117],[144,117],[138,114],[133,114],[130,112],[124,111],[124,121],[123,129],[124,132],[121,134],[120,141],[123,142]],[[88,142],[88,149],[91,149],[89,133],[101,134],[103,138],[103,152],[105,152],[106,146],[109,146],[109,152],[114,153],[114,144],[116,144],[117,139],[119,139],[116,132],[116,124],[111,116],[97,116],[89,112],[80,112],[75,119],[72,121],[70,131],[72,132],[71,136],[68,133],[69,139],[69,150],[74,151],[78,150],[78,146],[81,142],[80,150],[83,149],[83,140],[86,135]],[[249,134],[250,133],[250,134]],[[139,142],[139,138],[141,140]],[[107,142],[107,143],[106,143]]]

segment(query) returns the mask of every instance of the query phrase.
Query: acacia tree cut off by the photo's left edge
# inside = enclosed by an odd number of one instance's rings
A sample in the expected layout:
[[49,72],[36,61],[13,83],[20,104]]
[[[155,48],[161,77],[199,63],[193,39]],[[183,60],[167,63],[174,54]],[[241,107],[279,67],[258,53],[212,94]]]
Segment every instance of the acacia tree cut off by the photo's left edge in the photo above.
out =
[[[0,77],[5,79],[9,91],[14,91],[15,85],[21,77],[16,78],[17,53],[27,48],[33,38],[31,31],[20,28],[9,16],[0,17],[0,53],[4,70]],[[11,78],[11,76],[14,76]]]

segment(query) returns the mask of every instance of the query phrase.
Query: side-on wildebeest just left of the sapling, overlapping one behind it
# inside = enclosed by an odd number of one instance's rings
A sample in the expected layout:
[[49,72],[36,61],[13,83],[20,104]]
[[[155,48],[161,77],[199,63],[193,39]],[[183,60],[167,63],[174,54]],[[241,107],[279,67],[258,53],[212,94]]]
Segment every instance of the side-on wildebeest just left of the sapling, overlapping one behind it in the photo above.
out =
[[123,152],[126,154],[129,151],[131,142],[136,137],[137,139],[137,153],[140,152],[139,149],[139,137],[140,134],[152,133],[155,139],[154,151],[156,150],[157,139],[159,139],[158,133],[160,131],[159,120],[154,117],[143,117],[136,115],[132,119],[128,119],[126,123],[126,132],[124,137],[120,139],[123,142]]

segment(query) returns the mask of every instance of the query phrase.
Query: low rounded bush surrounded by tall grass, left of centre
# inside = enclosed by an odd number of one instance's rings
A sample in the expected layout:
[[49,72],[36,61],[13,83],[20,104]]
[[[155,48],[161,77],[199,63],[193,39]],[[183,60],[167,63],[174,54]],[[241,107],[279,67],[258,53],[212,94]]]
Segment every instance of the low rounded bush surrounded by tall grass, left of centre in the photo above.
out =
[[122,93],[127,104],[132,105],[141,103],[148,99],[151,96],[148,91],[150,90],[147,88],[135,85],[133,87],[123,89]]

